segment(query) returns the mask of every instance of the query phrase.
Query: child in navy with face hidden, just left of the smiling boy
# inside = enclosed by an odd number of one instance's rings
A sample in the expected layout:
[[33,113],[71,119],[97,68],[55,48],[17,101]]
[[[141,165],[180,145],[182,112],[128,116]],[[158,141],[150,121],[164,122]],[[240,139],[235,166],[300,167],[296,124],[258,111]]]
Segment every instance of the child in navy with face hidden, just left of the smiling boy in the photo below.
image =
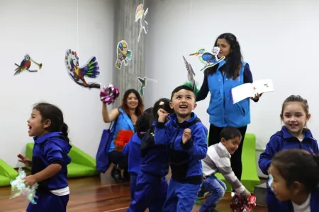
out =
[[[155,102],[153,117],[158,119],[159,108],[174,113],[169,107],[169,99],[162,98]],[[130,211],[162,212],[164,201],[167,196],[166,175],[169,170],[168,145],[157,145],[154,142],[155,123],[153,122],[147,134],[143,136],[140,147],[142,156],[140,174],[136,179],[134,199],[131,201]]]

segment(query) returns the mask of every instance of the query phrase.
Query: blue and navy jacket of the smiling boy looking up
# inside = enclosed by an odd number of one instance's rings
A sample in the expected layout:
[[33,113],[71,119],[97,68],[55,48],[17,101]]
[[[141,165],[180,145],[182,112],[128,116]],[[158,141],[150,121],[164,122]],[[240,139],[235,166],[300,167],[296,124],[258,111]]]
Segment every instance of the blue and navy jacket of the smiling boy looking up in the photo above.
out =
[[[208,130],[194,112],[191,113],[191,119],[183,123],[178,123],[176,114],[169,115],[169,119],[166,124],[157,122],[155,143],[169,144],[172,179],[182,183],[201,184],[201,159],[207,153]],[[191,139],[183,144],[181,139],[187,128],[191,129]]]

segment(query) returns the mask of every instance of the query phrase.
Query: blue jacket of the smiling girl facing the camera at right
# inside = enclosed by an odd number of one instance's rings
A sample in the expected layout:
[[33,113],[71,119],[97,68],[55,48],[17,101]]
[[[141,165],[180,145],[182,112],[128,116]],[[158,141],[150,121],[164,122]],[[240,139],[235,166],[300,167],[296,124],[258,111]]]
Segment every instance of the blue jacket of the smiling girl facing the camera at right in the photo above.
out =
[[274,134],[267,143],[265,151],[260,154],[258,164],[264,175],[268,175],[268,168],[272,163],[272,158],[276,153],[286,149],[301,148],[309,153],[318,154],[317,140],[313,139],[310,129],[303,130],[303,141],[299,141],[295,136],[291,135],[286,128],[282,126],[281,131]]

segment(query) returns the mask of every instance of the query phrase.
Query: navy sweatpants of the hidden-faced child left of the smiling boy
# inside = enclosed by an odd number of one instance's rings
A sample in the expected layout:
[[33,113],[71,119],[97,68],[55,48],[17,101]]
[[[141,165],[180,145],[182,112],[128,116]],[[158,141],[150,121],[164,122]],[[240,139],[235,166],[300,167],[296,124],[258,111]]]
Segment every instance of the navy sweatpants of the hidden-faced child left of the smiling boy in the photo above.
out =
[[167,180],[165,177],[155,177],[145,172],[138,175],[135,185],[134,199],[126,212],[145,211],[162,212],[167,196]]

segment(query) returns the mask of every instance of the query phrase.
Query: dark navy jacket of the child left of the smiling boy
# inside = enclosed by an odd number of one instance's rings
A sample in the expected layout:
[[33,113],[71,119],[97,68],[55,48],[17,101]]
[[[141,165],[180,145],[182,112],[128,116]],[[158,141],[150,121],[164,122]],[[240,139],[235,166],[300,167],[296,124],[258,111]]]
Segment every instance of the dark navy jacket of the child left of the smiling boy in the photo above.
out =
[[155,124],[156,122],[153,122],[147,134],[142,138],[140,170],[155,177],[164,177],[169,170],[169,145],[155,143]]

